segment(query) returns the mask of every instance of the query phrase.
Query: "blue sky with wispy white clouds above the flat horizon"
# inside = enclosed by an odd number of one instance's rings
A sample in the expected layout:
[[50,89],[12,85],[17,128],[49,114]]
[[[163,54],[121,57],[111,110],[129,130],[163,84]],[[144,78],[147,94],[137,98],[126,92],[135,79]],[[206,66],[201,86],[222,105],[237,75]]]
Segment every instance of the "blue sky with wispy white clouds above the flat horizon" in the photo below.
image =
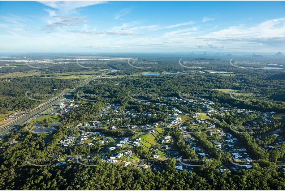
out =
[[285,53],[284,1],[0,1],[0,52]]

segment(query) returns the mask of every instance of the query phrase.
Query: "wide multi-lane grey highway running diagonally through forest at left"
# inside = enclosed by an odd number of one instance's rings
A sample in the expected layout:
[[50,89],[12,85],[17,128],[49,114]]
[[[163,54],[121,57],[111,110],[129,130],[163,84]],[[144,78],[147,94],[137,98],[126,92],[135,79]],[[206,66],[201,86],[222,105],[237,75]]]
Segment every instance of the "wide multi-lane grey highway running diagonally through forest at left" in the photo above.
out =
[[[76,89],[71,90],[71,91],[63,91],[59,95],[55,96],[54,98],[48,100],[44,104],[38,106],[37,108],[34,108],[30,110],[29,112],[24,113],[23,115],[17,117],[16,119],[0,126],[0,139],[4,138],[7,134],[9,134],[12,131],[15,131],[20,127],[22,124],[26,124],[29,121],[31,121],[34,118],[37,118],[40,114],[44,113],[46,110],[48,110],[51,106],[55,105],[56,103],[60,102],[64,98],[66,98],[68,95],[72,95],[75,92],[79,91],[82,87],[84,87],[86,84],[88,84],[91,80],[100,78],[102,75],[101,74],[98,76],[93,76],[89,78],[88,80],[84,81],[81,83]],[[68,97],[70,97],[68,96]]]

